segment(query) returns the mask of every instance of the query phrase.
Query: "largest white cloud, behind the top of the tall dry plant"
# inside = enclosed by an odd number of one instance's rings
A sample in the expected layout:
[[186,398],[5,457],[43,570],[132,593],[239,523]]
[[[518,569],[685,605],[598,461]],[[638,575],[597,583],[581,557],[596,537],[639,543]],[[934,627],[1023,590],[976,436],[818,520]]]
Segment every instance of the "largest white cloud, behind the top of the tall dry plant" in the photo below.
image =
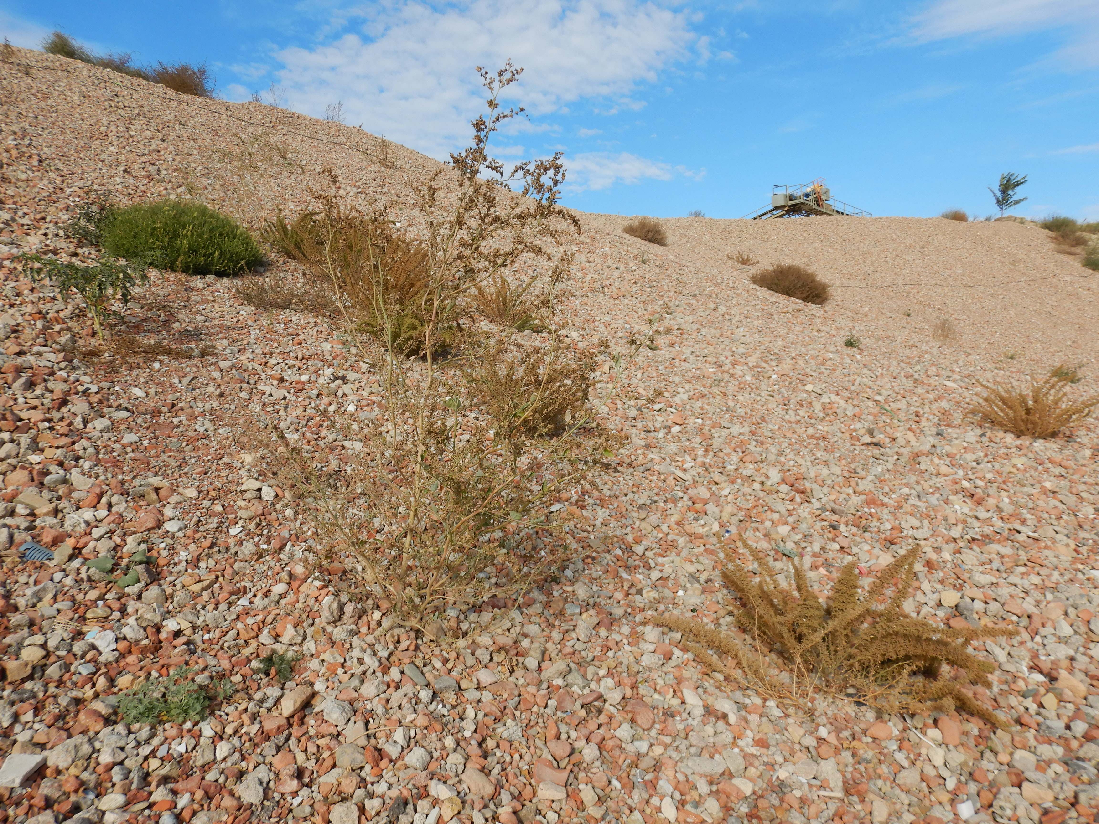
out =
[[464,145],[484,93],[475,66],[512,59],[513,98],[532,114],[582,98],[623,98],[696,42],[684,12],[643,0],[400,1],[346,34],[277,53],[291,108],[313,114],[343,100],[348,122],[435,157]]

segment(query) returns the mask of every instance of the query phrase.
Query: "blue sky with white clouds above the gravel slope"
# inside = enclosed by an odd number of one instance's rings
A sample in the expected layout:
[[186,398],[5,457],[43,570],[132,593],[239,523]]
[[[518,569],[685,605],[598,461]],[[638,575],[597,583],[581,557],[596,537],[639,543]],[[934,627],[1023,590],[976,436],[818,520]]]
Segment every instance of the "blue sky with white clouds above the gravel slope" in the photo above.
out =
[[586,211],[737,218],[773,183],[824,177],[875,214],[993,211],[1099,220],[1099,0],[3,0],[0,34],[59,27],[138,62],[206,62],[219,93],[435,157],[458,148],[474,67],[525,73],[506,159],[565,152]]

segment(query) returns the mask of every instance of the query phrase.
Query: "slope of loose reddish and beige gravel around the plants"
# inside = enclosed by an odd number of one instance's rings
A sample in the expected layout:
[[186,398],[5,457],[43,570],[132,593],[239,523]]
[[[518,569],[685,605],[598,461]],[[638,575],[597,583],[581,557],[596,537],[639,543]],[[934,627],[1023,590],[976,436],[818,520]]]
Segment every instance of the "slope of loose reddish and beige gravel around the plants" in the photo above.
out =
[[[411,187],[439,164],[290,112],[5,54],[8,821],[1094,819],[1097,427],[1032,443],[963,416],[975,380],[1094,363],[1094,276],[1044,233],[684,219],[660,248],[621,234],[625,219],[581,215],[577,345],[621,344],[659,313],[659,349],[608,404],[624,438],[613,471],[567,501],[577,561],[454,616],[462,641],[436,643],[348,600],[336,570],[307,569],[308,522],[233,439],[264,416],[318,444],[329,409],[377,407],[376,377],[332,326],[255,311],[225,280],[164,277],[125,323],[196,357],[90,358],[75,350],[88,332],[77,301],[10,260],[86,254],[59,226],[96,190],[199,197],[256,229],[307,204],[325,169],[414,225]],[[752,267],[725,257],[737,250],[888,288],[808,307],[751,286]],[[285,272],[275,261],[269,276]],[[1029,276],[1044,280],[992,288]],[[943,316],[957,341],[932,338]],[[862,347],[843,345],[850,333]],[[874,575],[918,545],[913,614],[1022,631],[977,645],[998,668],[983,698],[1013,728],[878,717],[826,693],[776,705],[713,678],[643,616],[728,626],[720,550],[737,532],[776,561],[800,554],[821,589],[851,559]],[[27,537],[54,563],[21,563]],[[85,564],[143,549],[155,563],[124,589],[118,566]],[[258,664],[271,652],[297,659],[291,682]],[[232,694],[200,724],[122,722],[120,694],[184,665]]]

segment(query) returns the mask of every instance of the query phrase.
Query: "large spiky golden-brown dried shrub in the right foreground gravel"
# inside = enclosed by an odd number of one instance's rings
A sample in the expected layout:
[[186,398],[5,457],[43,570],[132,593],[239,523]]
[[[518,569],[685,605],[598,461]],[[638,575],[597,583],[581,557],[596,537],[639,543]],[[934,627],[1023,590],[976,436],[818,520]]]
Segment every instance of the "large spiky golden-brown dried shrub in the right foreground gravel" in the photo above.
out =
[[[779,583],[768,559],[742,542],[759,575],[726,546],[721,577],[733,591],[734,621],[745,637],[679,615],[653,623],[684,634],[685,646],[713,670],[742,677],[771,692],[815,686],[853,689],[859,701],[885,713],[962,712],[1002,725],[966,688],[987,687],[991,661],[968,652],[972,642],[1010,636],[1014,628],[955,630],[908,615],[918,549],[909,549],[859,592],[855,561],[840,572],[831,595],[820,598],[804,569],[790,565],[793,588]],[[728,662],[721,660],[726,656]],[[785,672],[785,677],[780,673]],[[769,686],[769,688],[768,688]],[[777,689],[776,689],[777,688]]]

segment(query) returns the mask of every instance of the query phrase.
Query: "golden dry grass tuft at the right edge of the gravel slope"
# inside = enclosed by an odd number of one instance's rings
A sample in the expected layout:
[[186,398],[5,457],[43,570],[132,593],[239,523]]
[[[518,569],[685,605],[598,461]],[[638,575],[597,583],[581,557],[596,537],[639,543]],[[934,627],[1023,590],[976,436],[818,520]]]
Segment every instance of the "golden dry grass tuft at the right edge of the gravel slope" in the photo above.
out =
[[1068,387],[1078,380],[1075,368],[1058,366],[1043,380],[1031,378],[1029,388],[978,383],[984,394],[969,414],[1019,436],[1053,437],[1089,417],[1099,407],[1099,396],[1069,400]]

